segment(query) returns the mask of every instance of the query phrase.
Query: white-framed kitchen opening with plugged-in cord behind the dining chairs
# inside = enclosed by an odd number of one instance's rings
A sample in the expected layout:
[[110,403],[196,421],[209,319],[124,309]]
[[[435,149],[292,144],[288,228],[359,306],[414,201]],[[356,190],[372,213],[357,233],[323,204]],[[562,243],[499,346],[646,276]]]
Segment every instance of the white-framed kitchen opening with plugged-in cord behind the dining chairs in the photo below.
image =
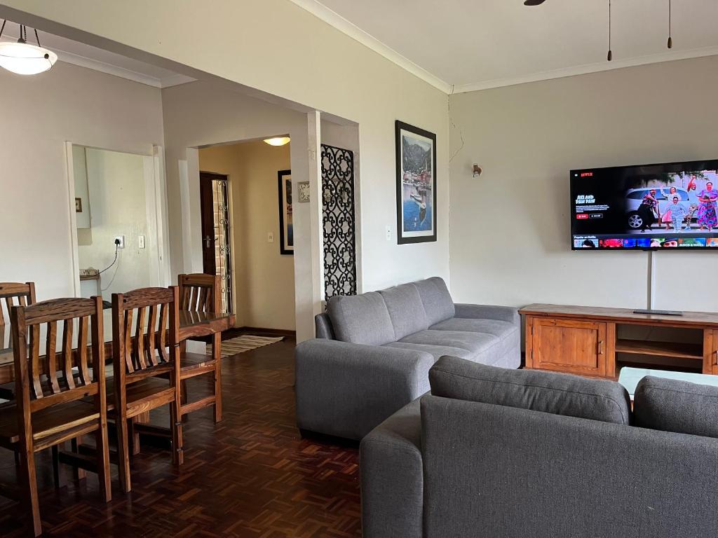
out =
[[133,154],[67,143],[75,296],[166,285],[161,148]]

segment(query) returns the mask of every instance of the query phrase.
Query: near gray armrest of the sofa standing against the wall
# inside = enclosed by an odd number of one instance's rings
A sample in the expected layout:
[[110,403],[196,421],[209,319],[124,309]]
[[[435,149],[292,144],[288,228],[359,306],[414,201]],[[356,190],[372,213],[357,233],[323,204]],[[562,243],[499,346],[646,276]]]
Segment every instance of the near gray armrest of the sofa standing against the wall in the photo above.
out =
[[434,357],[423,351],[314,339],[294,352],[297,426],[361,439],[429,391]]

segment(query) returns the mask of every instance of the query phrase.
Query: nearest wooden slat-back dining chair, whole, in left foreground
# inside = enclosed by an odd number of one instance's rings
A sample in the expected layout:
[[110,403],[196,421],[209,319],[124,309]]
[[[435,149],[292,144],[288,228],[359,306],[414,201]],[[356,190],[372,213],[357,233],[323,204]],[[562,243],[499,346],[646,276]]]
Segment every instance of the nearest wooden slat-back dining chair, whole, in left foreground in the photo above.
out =
[[42,524],[34,453],[94,432],[97,457],[78,457],[73,465],[98,473],[103,499],[111,500],[102,298],[13,306],[11,327],[17,397],[13,405],[0,407],[0,446],[19,452],[23,491],[9,494],[27,506],[37,537]]

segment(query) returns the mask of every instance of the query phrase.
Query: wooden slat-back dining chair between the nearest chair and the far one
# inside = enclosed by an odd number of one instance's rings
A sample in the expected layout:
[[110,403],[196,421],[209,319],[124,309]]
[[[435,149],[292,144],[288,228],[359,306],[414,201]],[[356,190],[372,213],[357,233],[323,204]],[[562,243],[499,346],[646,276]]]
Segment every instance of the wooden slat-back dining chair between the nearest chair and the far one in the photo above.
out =
[[112,294],[114,375],[108,390],[112,394],[110,412],[117,428],[120,483],[125,493],[131,491],[129,428],[137,417],[149,417],[151,410],[169,405],[172,461],[181,465],[184,459],[179,307],[177,286]]

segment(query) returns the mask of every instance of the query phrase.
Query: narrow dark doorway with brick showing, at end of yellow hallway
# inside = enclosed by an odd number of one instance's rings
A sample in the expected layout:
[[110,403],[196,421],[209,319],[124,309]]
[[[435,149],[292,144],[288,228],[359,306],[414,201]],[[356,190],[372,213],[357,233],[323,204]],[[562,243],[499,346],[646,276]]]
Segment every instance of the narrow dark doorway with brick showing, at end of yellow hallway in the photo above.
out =
[[200,171],[202,273],[218,275],[222,311],[232,310],[232,249],[226,174]]

